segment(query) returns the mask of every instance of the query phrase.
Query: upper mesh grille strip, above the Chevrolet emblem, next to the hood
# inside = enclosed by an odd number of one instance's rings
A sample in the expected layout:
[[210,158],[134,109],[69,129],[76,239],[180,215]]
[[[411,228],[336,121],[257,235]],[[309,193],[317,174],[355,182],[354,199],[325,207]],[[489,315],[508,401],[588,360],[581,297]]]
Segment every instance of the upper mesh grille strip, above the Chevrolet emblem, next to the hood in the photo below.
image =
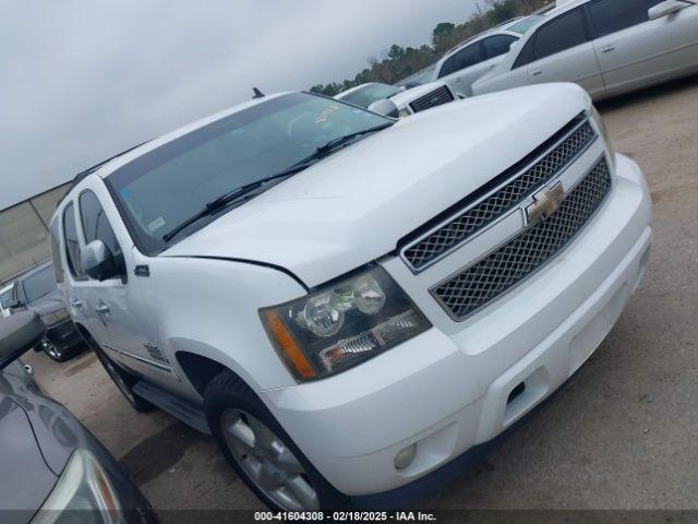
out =
[[426,236],[402,248],[402,259],[414,273],[425,269],[559,175],[595,139],[597,133],[589,120],[578,123],[542,157],[525,167],[522,172],[518,171],[504,182],[504,186],[452,216]]

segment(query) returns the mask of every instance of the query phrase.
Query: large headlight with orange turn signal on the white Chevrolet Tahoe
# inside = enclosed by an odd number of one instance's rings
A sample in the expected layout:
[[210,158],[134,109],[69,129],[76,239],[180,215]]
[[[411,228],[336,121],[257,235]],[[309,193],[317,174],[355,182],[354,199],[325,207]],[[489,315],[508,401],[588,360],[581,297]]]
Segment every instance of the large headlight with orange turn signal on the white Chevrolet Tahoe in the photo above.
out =
[[344,371],[431,327],[381,267],[260,310],[282,360],[299,380]]

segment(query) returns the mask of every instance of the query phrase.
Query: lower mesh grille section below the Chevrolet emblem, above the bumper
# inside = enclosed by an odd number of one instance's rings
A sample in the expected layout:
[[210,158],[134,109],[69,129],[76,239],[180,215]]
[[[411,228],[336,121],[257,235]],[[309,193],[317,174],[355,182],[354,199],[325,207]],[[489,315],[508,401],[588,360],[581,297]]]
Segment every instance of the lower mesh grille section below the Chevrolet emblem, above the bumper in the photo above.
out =
[[486,306],[550,261],[583,228],[611,189],[605,157],[567,194],[559,209],[479,262],[449,276],[431,294],[457,321]]

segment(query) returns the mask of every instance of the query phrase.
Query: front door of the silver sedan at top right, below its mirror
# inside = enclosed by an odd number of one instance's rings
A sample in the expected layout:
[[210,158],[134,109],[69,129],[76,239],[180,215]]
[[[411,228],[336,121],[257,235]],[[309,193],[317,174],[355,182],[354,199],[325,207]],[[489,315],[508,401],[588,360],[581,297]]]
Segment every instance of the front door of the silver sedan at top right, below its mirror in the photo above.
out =
[[594,48],[610,95],[698,68],[698,7],[650,20],[661,0],[594,0]]

